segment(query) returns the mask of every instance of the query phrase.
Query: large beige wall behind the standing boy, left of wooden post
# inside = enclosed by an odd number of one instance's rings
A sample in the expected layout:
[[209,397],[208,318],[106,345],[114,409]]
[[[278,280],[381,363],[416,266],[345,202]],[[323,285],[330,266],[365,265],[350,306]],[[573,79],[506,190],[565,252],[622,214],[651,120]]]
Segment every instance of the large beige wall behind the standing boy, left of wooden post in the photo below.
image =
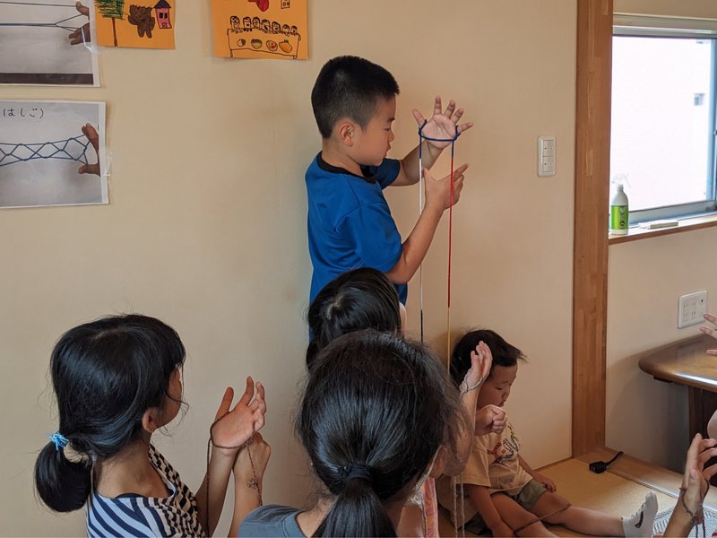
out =
[[[303,174],[319,148],[308,97],[324,61],[347,53],[401,85],[394,155],[417,142],[410,109],[428,113],[436,92],[476,123],[456,145],[471,169],[454,214],[452,325],[494,328],[528,354],[507,406],[524,454],[569,456],[575,3],[312,0],[306,62],[214,58],[208,3],[177,4],[177,50],[102,48],[99,89],[0,88],[0,99],[107,101],[112,157],[108,206],[0,211],[0,534],[83,534],[82,513],[54,516],[32,496],[34,457],[57,425],[48,356],[65,329],[125,311],[164,319],[186,343],[191,409],[158,439],[186,482],[203,474],[224,386],[252,374],[270,406],[264,499],[304,502],[290,415],[311,269]],[[536,174],[541,134],[557,136],[554,178]],[[388,197],[408,233],[418,191]],[[445,252],[444,225],[423,277],[442,355]],[[414,280],[412,334],[418,297]]]

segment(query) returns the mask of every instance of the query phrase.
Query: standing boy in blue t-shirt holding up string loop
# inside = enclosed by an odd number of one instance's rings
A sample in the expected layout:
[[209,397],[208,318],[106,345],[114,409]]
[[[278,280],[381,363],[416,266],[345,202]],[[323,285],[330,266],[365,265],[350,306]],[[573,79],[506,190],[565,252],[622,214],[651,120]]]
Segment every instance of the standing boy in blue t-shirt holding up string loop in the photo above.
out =
[[[428,169],[450,142],[425,141],[422,163],[426,203],[402,241],[383,189],[419,181],[419,147],[401,161],[386,159],[399,89],[393,75],[357,56],[338,56],[321,69],[311,104],[322,135],[322,151],[307,169],[308,249],[314,274],[313,301],[324,285],[358,267],[373,267],[393,282],[401,302],[407,282],[428,252],[441,216],[451,205],[451,177],[433,178]],[[450,141],[472,123],[457,125],[462,108],[451,100],[443,110],[436,97],[433,117],[423,126],[428,138]],[[424,123],[416,109],[413,117]],[[464,164],[454,170],[454,203],[463,187]]]

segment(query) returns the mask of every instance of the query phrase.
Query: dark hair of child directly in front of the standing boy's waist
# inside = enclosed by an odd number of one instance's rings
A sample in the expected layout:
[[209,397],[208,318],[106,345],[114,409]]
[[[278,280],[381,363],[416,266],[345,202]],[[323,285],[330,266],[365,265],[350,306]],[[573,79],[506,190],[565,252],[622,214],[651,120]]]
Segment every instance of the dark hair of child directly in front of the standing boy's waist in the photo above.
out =
[[307,368],[311,369],[316,353],[341,334],[362,329],[398,332],[398,293],[384,273],[370,267],[353,269],[318,292],[307,321],[312,334],[307,348]]

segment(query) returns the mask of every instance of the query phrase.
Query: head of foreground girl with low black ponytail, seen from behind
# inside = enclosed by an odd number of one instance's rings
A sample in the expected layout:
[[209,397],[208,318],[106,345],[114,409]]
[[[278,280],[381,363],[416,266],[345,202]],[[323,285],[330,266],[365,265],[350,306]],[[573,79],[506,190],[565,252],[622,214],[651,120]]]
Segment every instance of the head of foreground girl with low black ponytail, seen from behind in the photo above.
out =
[[357,331],[309,370],[296,429],[333,506],[316,536],[395,536],[386,501],[410,494],[467,422],[445,369],[420,343]]

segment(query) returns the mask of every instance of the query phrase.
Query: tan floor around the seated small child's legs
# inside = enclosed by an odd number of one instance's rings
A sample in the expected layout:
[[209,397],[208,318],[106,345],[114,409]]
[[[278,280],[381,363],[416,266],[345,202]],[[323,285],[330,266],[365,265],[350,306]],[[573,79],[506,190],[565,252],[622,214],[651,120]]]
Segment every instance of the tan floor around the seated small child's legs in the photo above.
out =
[[[630,456],[620,456],[605,473],[592,473],[588,464],[593,461],[607,462],[616,452],[608,448],[596,450],[578,458],[567,459],[540,469],[557,484],[557,493],[575,506],[592,508],[616,516],[629,516],[652,490],[658,501],[658,512],[675,506],[682,476],[667,469],[646,464]],[[704,508],[717,511],[717,489],[711,489]],[[558,536],[583,536],[559,525],[549,527]],[[440,518],[441,536],[454,536],[454,526],[447,512]],[[462,532],[459,531],[459,535]],[[466,533],[466,536],[475,534]],[[487,534],[489,535],[489,534]]]

